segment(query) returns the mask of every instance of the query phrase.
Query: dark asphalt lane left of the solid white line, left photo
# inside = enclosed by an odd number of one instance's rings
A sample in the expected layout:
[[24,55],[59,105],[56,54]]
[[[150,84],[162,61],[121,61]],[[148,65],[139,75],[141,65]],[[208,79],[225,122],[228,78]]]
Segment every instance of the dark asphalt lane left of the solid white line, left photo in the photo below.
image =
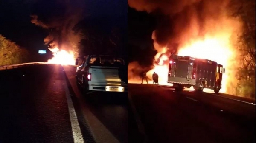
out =
[[72,143],[61,66],[0,71],[1,143]]

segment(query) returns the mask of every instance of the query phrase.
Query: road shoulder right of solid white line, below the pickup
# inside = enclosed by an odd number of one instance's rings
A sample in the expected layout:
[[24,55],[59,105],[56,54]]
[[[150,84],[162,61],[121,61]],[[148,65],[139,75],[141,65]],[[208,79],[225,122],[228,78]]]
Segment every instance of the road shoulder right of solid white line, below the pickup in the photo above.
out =
[[[82,105],[81,108],[83,110],[84,118],[90,125],[93,136],[97,141],[105,141],[105,138],[102,137],[102,135],[110,138],[110,143],[114,143],[115,141],[128,143],[128,140],[129,142],[134,142],[139,139],[137,137],[137,125],[128,103],[127,93],[113,94],[93,92],[87,95],[82,95],[76,85],[76,67],[64,66],[64,71],[70,81],[73,93]],[[88,117],[87,115],[91,116]],[[129,138],[128,130],[133,131],[129,132]],[[130,136],[134,138],[130,138]]]

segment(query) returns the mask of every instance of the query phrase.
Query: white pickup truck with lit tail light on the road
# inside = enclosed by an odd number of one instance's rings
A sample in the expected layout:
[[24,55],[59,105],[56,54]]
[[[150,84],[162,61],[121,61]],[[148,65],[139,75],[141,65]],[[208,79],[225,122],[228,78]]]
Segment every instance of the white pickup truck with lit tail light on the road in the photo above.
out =
[[[78,62],[76,59],[76,65]],[[76,80],[84,92],[127,92],[127,64],[116,56],[84,56],[76,68]]]

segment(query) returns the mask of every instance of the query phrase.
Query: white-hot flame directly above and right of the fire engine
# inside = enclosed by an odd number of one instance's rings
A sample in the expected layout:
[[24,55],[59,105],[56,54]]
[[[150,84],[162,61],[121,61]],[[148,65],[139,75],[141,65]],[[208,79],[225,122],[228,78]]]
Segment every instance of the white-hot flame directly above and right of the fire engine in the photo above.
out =
[[[227,35],[219,35],[215,38],[207,37],[204,40],[188,43],[178,51],[178,55],[216,61],[218,64],[222,64],[229,72],[230,59],[234,53],[230,49],[228,38],[229,36]],[[220,92],[226,93],[228,80],[227,73],[223,74]]]

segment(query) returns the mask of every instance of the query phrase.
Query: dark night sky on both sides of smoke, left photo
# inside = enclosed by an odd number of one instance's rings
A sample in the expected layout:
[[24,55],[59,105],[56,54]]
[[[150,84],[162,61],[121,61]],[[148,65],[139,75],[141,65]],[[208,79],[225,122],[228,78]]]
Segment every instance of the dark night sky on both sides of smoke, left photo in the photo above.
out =
[[[44,38],[49,31],[30,22],[31,14],[47,19],[64,11],[61,0],[0,0],[0,34],[29,50],[47,49]],[[72,1],[72,0],[71,0]],[[81,2],[81,3],[80,3]],[[83,19],[93,19],[99,26],[119,25],[127,28],[127,0],[81,0]],[[60,17],[61,18],[61,17]],[[124,32],[123,34],[127,34]]]

